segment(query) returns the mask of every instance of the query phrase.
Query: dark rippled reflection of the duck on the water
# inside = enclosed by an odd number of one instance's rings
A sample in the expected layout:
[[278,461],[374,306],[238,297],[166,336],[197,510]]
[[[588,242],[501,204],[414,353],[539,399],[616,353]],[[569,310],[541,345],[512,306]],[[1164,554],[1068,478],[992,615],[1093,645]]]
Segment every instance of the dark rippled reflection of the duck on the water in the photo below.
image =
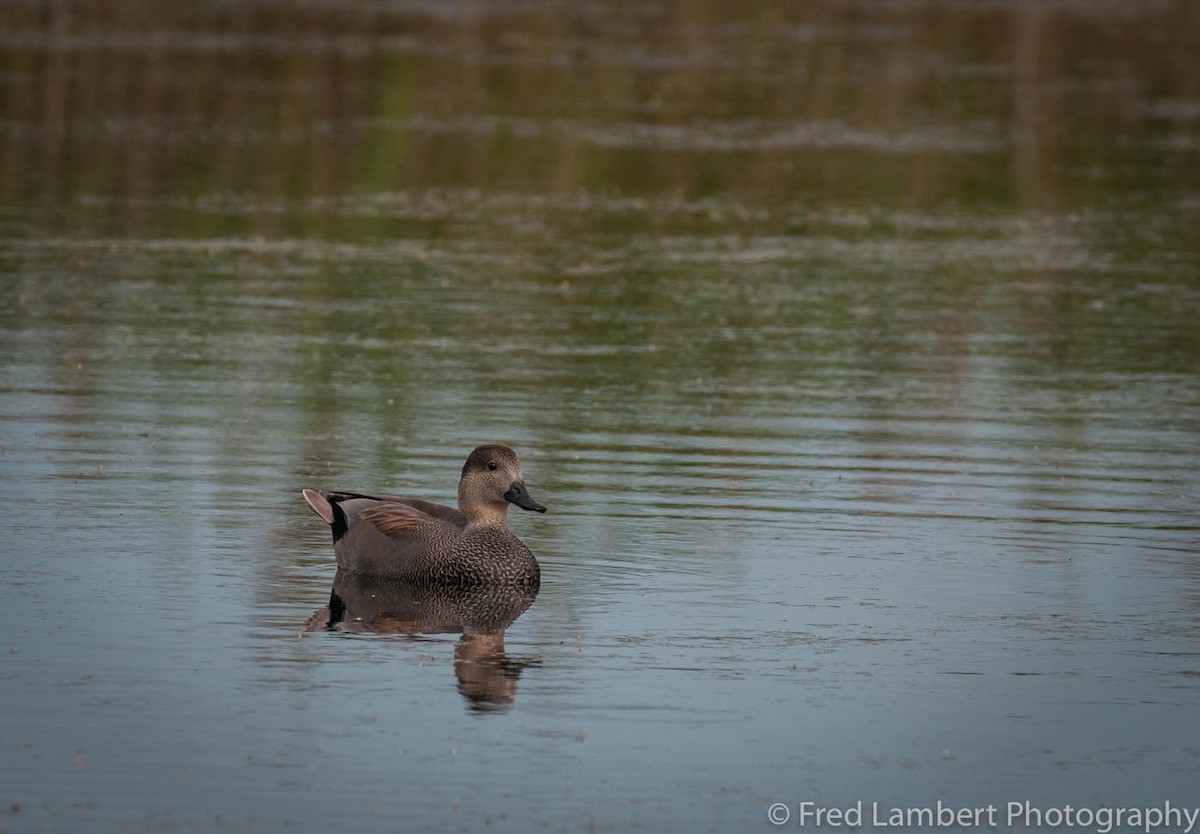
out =
[[504,709],[516,697],[521,672],[536,662],[510,658],[504,630],[536,596],[536,587],[430,588],[340,570],[329,605],[304,631],[462,634],[454,649],[458,691],[472,709]]

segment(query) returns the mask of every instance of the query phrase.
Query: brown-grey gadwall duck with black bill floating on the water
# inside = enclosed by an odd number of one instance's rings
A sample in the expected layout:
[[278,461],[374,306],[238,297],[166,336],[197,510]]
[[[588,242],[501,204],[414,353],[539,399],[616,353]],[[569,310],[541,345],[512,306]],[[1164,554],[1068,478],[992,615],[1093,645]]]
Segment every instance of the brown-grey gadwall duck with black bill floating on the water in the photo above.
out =
[[508,446],[479,446],[458,480],[458,509],[419,498],[304,490],[334,530],[337,566],[352,574],[436,584],[536,588],[541,570],[508,524],[509,504],[545,512]]

